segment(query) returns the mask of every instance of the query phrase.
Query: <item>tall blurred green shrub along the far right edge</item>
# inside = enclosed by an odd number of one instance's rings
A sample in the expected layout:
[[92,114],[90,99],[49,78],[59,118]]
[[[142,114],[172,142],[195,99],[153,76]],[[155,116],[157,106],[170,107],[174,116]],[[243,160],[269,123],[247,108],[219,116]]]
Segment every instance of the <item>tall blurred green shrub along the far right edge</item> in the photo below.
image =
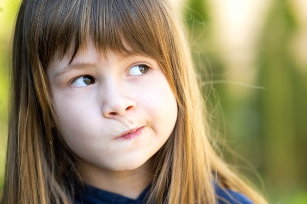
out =
[[[307,67],[296,58],[298,51],[293,49],[299,31],[297,11],[291,8],[289,1],[276,1],[258,47],[258,80],[266,87],[258,101],[262,118],[261,170],[272,189],[293,195],[307,189],[307,126],[304,124],[307,121]],[[295,198],[305,198],[307,203],[306,193]]]

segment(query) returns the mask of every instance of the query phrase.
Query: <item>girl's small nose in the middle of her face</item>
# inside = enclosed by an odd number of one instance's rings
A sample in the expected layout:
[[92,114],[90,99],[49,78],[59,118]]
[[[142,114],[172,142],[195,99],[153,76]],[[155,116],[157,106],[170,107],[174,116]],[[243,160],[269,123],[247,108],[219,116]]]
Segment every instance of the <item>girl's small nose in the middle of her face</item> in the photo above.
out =
[[136,102],[131,97],[131,91],[123,85],[111,84],[102,91],[102,113],[104,117],[123,116],[136,108]]

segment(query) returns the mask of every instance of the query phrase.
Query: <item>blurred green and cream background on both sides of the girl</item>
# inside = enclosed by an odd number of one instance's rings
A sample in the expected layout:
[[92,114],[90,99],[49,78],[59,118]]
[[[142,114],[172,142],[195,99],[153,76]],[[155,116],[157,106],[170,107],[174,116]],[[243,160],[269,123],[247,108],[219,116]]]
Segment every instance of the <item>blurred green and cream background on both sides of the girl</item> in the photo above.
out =
[[[173,0],[184,14],[211,113],[271,203],[307,204],[307,1]],[[20,0],[0,0],[0,188],[11,36]],[[189,8],[189,9],[187,9]],[[215,112],[218,109],[219,113]]]

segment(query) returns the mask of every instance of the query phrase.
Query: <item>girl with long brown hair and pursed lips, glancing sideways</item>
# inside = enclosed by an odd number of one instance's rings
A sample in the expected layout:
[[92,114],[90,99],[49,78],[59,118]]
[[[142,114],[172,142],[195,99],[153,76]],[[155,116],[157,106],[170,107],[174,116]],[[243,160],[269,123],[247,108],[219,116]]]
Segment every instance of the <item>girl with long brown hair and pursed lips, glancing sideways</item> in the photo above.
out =
[[167,0],[23,0],[1,204],[266,204],[215,152]]

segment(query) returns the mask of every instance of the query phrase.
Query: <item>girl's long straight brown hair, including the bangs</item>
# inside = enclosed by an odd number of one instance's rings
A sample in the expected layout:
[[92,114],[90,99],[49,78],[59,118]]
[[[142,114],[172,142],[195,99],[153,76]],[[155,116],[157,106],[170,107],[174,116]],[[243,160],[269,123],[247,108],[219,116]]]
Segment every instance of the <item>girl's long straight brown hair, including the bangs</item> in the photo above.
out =
[[176,12],[165,0],[23,0],[15,28],[12,107],[1,204],[72,203],[81,178],[76,157],[54,124],[46,69],[72,59],[86,42],[106,54],[140,54],[163,68],[178,103],[178,119],[157,153],[152,204],[216,204],[214,185],[265,200],[213,149],[205,102]]

